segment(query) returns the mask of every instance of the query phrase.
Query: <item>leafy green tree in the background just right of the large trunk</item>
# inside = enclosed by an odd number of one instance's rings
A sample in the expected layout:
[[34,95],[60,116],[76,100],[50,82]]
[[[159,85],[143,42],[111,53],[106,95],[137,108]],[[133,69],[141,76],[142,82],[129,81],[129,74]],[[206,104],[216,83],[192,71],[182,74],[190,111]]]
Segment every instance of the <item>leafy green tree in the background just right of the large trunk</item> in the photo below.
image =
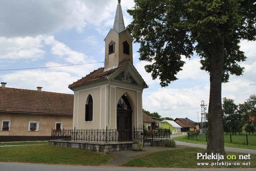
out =
[[222,111],[224,132],[232,134],[242,132],[244,125],[243,114],[233,99],[223,98]]

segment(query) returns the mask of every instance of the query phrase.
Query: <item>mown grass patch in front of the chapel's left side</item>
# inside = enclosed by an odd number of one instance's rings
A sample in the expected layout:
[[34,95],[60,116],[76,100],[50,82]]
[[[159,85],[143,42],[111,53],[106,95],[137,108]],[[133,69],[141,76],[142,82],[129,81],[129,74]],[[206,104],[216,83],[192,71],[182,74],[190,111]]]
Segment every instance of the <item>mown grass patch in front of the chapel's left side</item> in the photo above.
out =
[[45,163],[60,165],[105,165],[116,155],[94,153],[92,151],[65,147],[26,145],[0,147],[1,162]]

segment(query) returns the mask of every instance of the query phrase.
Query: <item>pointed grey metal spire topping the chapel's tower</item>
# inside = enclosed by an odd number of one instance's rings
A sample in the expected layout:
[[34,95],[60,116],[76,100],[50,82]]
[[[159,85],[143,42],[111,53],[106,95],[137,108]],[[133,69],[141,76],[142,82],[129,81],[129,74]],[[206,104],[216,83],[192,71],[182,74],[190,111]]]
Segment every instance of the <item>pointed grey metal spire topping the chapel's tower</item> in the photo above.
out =
[[122,32],[125,29],[121,0],[118,0],[113,29],[116,30],[118,33]]

